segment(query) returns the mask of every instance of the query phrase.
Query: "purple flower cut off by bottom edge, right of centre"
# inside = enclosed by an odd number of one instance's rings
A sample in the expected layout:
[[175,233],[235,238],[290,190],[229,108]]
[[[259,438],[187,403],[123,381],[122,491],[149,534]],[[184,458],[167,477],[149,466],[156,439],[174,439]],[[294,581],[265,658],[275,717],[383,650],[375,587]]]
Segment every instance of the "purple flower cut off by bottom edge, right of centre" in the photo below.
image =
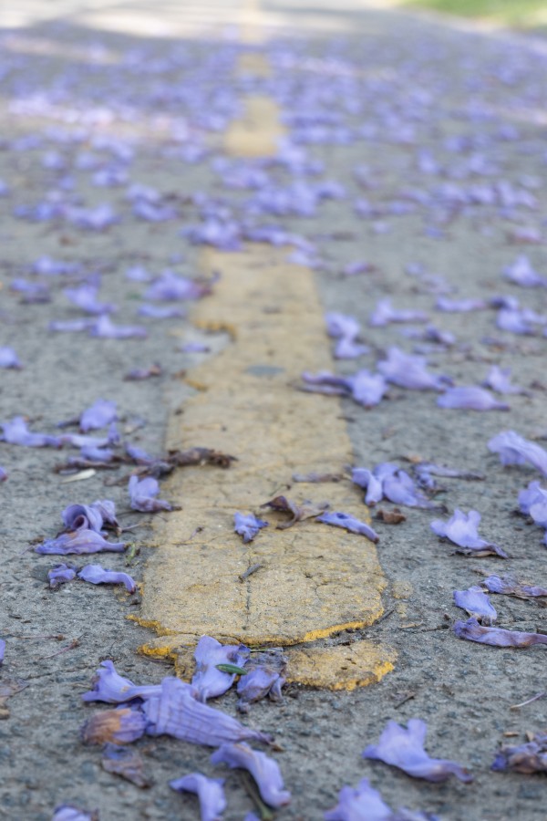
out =
[[354,788],[343,786],[338,794],[338,804],[325,813],[325,821],[439,821],[428,813],[412,812],[401,807],[391,810],[367,778],[361,779]]

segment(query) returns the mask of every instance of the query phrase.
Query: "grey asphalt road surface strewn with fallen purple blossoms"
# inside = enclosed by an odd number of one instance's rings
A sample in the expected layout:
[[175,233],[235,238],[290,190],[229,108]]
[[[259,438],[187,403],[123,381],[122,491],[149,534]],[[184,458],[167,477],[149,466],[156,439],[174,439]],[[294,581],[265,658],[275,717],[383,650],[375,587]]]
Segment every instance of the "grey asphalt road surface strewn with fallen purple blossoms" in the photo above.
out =
[[[77,427],[57,424],[79,417],[98,398],[115,400],[117,452],[129,442],[162,453],[168,424],[183,416],[185,400],[198,390],[192,369],[232,343],[225,327],[215,332],[192,323],[191,301],[154,301],[145,296],[149,283],[127,272],[141,266],[150,277],[166,268],[211,277],[195,243],[202,234],[188,232],[207,220],[223,226],[224,236],[228,229],[243,236],[243,223],[268,224],[309,241],[296,240],[293,262],[314,267],[325,311],[356,317],[369,347],[358,359],[333,362],[340,374],[374,370],[394,345],[420,352],[433,374],[448,374],[459,386],[480,384],[493,365],[511,369],[526,393],[496,395],[510,411],[443,410],[435,391],[397,385],[369,410],[342,401],[355,465],[397,462],[409,470],[423,460],[482,474],[482,481],[439,480],[446,491],[436,501],[449,512],[440,515],[478,510],[480,534],[509,558],[456,554],[430,529],[439,511],[403,507],[406,521],[399,525],[373,518],[387,580],[384,617],[325,643],[385,645],[397,653],[394,670],[352,692],[292,684],[281,704],[262,701],[243,722],[273,733],[284,748],[272,754],[293,799],[280,819],[320,819],[343,785],[364,777],[391,807],[445,821],[544,818],[544,776],[495,773],[490,765],[501,743],[523,743],[527,732],[545,728],[544,699],[511,709],[544,691],[545,648],[488,647],[459,640],[452,630],[466,618],[452,603],[455,589],[506,573],[547,586],[542,529],[515,514],[518,492],[541,473],[503,468],[487,448],[508,429],[539,444],[547,437],[545,288],[502,275],[527,255],[547,277],[542,42],[360,4],[336,11],[325,4],[264,4],[267,37],[258,46],[238,39],[254,25],[253,8],[236,13],[228,3],[165,3],[153,15],[144,4],[69,4],[58,5],[55,18],[42,5],[21,4],[18,16],[10,14],[4,25],[14,27],[1,34],[0,346],[14,348],[23,367],[2,370],[2,421],[21,415],[32,431],[74,433]],[[236,71],[249,50],[267,58],[269,76]],[[222,149],[251,92],[274,99],[283,112],[288,140],[274,164],[226,160]],[[287,247],[287,256],[293,254]],[[64,273],[36,265],[44,257],[67,263]],[[366,265],[351,273],[348,266],[356,263]],[[98,301],[118,308],[116,326],[144,327],[147,337],[50,330],[51,322],[97,321],[65,294],[82,284],[100,286]],[[491,305],[495,296],[535,312],[521,316],[529,333],[498,327],[496,307],[436,307],[439,297]],[[371,327],[378,300],[387,297],[397,310],[427,313],[455,341],[420,338],[425,324],[416,322]],[[144,302],[182,307],[188,317],[139,316]],[[408,327],[414,336],[401,333]],[[298,338],[297,321],[293,333]],[[210,350],[181,350],[188,343]],[[124,380],[131,369],[154,363],[160,376]],[[312,406],[316,401],[318,414],[325,407],[324,397],[306,398]],[[221,423],[222,407],[218,415]],[[316,424],[319,460],[329,430],[320,416]],[[211,446],[206,436],[185,443],[195,445]],[[6,641],[0,687],[26,684],[3,707],[0,816],[46,821],[56,805],[73,804],[97,808],[102,821],[197,818],[195,799],[176,794],[168,782],[198,770],[226,777],[224,818],[243,818],[252,798],[237,773],[210,764],[207,748],[167,736],[141,739],[135,747],[153,784],[139,789],[105,772],[100,749],[80,740],[80,726],[98,710],[80,695],[101,660],[113,660],[137,683],[157,683],[173,667],[138,653],[155,638],[127,618],[139,617],[140,593],[83,581],[48,587],[47,570],[64,559],[37,555],[32,546],[57,534],[67,504],[112,499],[121,524],[136,525],[128,536],[135,556],[67,556],[78,568],[97,560],[140,581],[155,549],[150,515],[129,508],[126,483],[134,465],[66,483],[75,474],[57,473],[56,466],[77,454],[0,442],[8,474],[0,486],[0,637]],[[334,473],[344,468],[332,465]],[[215,469],[201,470],[206,482]],[[183,488],[183,469],[180,475]],[[285,492],[300,493],[287,480]],[[327,499],[328,483],[316,487],[314,500]],[[162,522],[169,517],[155,515]],[[492,598],[500,627],[545,629],[537,600]],[[233,715],[235,705],[232,692],[215,704]],[[473,783],[429,784],[361,757],[388,720],[411,718],[428,722],[428,753],[468,767]]]

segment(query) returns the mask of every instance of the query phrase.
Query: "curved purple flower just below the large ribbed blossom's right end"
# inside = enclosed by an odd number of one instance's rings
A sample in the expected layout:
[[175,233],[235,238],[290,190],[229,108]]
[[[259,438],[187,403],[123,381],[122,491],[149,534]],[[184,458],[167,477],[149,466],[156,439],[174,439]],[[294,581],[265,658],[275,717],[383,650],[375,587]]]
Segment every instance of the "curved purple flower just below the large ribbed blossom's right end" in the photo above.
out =
[[289,804],[291,794],[284,789],[279,765],[266,753],[253,750],[246,743],[222,744],[212,753],[212,764],[228,764],[231,768],[248,770],[258,786],[263,801],[270,806]]

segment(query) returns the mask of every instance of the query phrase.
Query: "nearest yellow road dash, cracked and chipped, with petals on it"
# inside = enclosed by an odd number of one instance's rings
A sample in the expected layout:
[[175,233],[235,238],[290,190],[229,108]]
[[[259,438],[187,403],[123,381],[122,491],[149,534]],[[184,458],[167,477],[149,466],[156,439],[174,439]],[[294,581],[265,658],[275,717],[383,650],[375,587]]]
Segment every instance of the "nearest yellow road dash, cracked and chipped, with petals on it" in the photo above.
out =
[[[204,268],[222,277],[193,319],[202,327],[227,319],[234,338],[192,372],[201,391],[171,416],[168,447],[202,444],[238,462],[229,471],[186,468],[164,485],[183,509],[156,520],[159,549],[146,569],[141,615],[169,637],[148,650],[181,654],[180,669],[204,633],[287,646],[365,627],[383,612],[386,583],[365,537],[313,520],[276,530],[278,514],[266,516],[272,525],[249,545],[233,533],[235,511],[260,514],[259,505],[279,493],[367,515],[348,482],[291,487],[295,472],[339,471],[352,448],[338,400],[294,390],[302,370],[330,369],[332,361],[313,273],[287,264],[286,254],[250,245],[244,253],[203,255]],[[242,583],[239,576],[255,564],[262,567]],[[371,650],[362,662],[378,678],[393,655]]]

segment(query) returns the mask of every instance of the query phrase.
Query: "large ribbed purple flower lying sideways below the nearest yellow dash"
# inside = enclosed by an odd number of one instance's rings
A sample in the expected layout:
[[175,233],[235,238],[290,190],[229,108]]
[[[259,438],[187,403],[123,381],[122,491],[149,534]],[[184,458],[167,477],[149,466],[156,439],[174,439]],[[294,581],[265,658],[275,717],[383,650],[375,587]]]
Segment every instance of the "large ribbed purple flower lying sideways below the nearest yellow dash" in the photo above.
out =
[[225,712],[196,700],[190,684],[167,676],[161,682],[160,695],[143,704],[149,735],[171,735],[181,741],[218,747],[222,743],[258,741],[270,743],[269,735],[243,727]]

